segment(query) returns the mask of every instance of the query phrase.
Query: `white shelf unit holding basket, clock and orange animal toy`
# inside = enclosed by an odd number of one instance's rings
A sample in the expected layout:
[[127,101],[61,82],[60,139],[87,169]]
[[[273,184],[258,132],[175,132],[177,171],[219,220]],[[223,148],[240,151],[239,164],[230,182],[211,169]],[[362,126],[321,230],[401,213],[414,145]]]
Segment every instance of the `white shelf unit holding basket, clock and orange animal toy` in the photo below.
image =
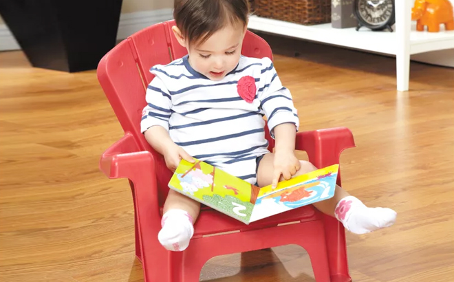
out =
[[[286,21],[251,16],[248,28],[273,34],[281,34],[309,41],[396,55],[396,85],[398,91],[409,89],[410,55],[422,52],[454,48],[454,30],[418,32],[411,21],[411,3],[396,1],[396,25],[394,32],[373,32],[367,28],[332,28],[331,23],[300,25]],[[453,50],[454,56],[454,50]]]

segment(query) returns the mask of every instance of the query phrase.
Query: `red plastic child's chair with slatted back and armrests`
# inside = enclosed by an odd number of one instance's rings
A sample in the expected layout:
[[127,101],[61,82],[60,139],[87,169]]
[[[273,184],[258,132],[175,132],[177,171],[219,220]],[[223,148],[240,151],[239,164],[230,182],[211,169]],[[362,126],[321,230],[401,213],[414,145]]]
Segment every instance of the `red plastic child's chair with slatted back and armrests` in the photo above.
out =
[[[166,169],[162,155],[153,151],[140,133],[140,117],[146,105],[145,89],[153,79],[150,67],[170,63],[186,54],[171,32],[172,25],[173,21],[158,23],[133,34],[102,58],[97,72],[125,131],[123,138],[102,154],[100,169],[109,178],[129,179],[135,211],[136,255],[142,261],[144,280],[199,281],[202,266],[212,257],[294,243],[307,250],[317,282],[351,281],[343,226],[312,206],[248,226],[203,207],[193,239],[184,252],[170,252],[160,245],[158,232],[171,172]],[[252,32],[246,34],[241,53],[272,58],[266,41]],[[274,142],[269,135],[267,138],[272,149]],[[352,133],[344,127],[305,131],[296,136],[296,149],[306,151],[318,168],[338,164],[340,153],[354,146]]]

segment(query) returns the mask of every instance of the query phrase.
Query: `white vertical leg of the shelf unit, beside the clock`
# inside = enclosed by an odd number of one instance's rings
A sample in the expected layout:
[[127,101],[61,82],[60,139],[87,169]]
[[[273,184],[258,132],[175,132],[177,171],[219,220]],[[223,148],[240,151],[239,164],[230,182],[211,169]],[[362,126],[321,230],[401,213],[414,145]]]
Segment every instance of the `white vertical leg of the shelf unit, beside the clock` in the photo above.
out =
[[398,91],[408,91],[410,80],[411,2],[396,1],[396,83]]

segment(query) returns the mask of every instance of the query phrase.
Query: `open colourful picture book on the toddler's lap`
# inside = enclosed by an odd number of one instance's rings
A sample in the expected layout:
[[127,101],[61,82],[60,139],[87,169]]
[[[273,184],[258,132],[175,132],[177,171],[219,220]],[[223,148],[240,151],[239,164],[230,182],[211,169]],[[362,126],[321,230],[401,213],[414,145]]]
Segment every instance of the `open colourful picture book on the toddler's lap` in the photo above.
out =
[[338,164],[259,188],[214,166],[182,160],[169,188],[245,224],[334,196]]

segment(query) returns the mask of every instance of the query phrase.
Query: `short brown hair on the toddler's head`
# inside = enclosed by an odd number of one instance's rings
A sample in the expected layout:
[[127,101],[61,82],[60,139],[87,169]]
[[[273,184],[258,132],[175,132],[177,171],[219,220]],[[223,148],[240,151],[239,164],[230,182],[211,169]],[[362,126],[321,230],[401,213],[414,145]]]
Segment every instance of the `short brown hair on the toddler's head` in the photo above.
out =
[[189,44],[204,43],[228,23],[246,27],[249,0],[175,0],[173,18]]

